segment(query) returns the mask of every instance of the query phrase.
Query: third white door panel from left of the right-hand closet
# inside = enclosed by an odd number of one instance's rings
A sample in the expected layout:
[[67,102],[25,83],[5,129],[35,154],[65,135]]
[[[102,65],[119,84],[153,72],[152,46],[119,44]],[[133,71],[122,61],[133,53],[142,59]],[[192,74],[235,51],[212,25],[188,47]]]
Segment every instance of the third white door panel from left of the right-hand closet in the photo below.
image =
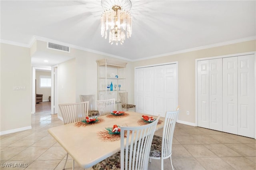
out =
[[223,58],[223,131],[237,134],[237,57]]

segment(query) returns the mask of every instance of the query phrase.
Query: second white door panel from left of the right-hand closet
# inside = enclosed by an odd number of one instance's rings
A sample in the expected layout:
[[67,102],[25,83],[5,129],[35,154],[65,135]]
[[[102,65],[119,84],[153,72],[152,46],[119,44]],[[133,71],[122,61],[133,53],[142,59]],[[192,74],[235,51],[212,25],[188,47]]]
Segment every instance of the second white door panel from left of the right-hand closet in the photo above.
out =
[[222,58],[209,60],[209,128],[222,131]]

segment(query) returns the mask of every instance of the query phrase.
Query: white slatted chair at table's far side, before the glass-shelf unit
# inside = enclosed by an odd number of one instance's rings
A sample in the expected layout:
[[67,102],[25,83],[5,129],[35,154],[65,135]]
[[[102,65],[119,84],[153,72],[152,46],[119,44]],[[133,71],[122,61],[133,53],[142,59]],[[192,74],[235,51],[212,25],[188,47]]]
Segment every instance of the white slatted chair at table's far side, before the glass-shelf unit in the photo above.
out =
[[100,116],[110,114],[112,111],[114,111],[115,102],[116,102],[116,99],[96,101]]

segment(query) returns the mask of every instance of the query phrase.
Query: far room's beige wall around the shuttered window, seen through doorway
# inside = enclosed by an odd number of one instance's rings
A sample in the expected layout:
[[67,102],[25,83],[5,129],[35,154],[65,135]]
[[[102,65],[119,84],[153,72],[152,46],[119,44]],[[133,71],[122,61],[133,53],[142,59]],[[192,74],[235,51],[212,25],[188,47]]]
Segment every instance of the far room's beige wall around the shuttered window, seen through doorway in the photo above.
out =
[[51,95],[51,88],[41,88],[40,87],[40,76],[47,75],[51,76],[50,71],[36,71],[36,94],[43,95],[43,101],[48,101]]

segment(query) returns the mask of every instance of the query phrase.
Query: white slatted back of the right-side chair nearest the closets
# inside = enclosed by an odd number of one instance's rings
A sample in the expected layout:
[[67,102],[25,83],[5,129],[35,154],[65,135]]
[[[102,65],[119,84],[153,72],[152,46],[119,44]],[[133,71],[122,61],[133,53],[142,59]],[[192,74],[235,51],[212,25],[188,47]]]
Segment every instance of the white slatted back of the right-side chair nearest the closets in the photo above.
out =
[[164,121],[163,137],[162,137],[162,157],[170,156],[172,154],[172,138],[174,134],[174,128],[178,119],[177,111],[167,111]]

